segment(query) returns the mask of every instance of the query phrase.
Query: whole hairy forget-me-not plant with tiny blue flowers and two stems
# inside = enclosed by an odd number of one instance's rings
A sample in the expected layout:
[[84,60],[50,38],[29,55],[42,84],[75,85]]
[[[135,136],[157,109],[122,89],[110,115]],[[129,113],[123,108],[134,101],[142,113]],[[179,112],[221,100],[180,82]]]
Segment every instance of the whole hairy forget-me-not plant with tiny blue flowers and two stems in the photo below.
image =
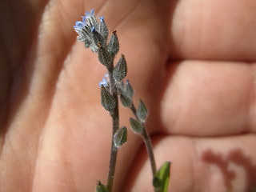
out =
[[134,118],[130,118],[130,126],[135,134],[142,136],[146,150],[149,154],[150,165],[153,175],[154,191],[166,192],[168,190],[170,178],[170,162],[166,162],[157,171],[154,160],[154,153],[150,142],[150,137],[145,128],[148,111],[142,100],[139,101],[138,107],[134,106],[134,90],[126,78],[127,66],[126,58],[123,54],[114,65],[114,58],[118,54],[119,42],[116,31],[108,41],[109,30],[106,26],[104,17],[96,18],[94,10],[86,12],[82,16],[82,22],[75,22],[74,30],[78,33],[78,41],[84,42],[86,48],[90,48],[98,54],[98,61],[106,66],[107,73],[102,81],[99,82],[101,87],[101,103],[105,110],[110,113],[112,118],[112,142],[110,151],[110,167],[106,186],[102,182],[97,182],[97,192],[111,192],[114,184],[114,171],[117,161],[118,149],[127,141],[126,126],[119,126],[119,109],[118,98],[123,106],[130,108]]

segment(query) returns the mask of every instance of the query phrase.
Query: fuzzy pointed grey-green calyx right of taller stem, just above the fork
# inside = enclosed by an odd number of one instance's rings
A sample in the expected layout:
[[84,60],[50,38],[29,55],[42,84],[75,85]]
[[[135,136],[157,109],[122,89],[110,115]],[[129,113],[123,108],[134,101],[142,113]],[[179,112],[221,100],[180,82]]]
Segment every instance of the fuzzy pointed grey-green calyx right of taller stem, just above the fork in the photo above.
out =
[[114,67],[113,78],[116,82],[121,82],[126,77],[127,66],[125,56],[122,54],[118,64]]

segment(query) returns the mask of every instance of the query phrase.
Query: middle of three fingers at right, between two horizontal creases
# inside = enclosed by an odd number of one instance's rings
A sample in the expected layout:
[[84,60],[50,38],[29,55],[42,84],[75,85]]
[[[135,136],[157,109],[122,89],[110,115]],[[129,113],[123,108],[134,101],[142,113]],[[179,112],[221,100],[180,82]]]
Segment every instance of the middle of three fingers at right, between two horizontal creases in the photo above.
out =
[[171,134],[255,132],[254,64],[186,61],[168,66],[161,119]]

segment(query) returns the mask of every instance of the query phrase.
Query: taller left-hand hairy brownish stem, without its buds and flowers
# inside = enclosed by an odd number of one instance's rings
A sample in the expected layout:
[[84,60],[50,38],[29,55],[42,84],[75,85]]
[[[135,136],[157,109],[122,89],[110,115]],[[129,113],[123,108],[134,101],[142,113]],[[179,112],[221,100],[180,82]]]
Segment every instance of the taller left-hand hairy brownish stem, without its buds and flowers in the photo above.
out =
[[114,184],[114,171],[115,171],[115,166],[118,158],[118,149],[114,146],[114,134],[119,128],[119,109],[118,109],[118,92],[117,92],[117,87],[115,86],[115,83],[114,83],[112,70],[109,70],[109,75],[110,75],[110,92],[116,104],[114,106],[113,114],[111,114],[112,142],[111,142],[111,151],[110,151],[109,174],[107,176],[107,185],[106,185],[108,192],[111,192]]

